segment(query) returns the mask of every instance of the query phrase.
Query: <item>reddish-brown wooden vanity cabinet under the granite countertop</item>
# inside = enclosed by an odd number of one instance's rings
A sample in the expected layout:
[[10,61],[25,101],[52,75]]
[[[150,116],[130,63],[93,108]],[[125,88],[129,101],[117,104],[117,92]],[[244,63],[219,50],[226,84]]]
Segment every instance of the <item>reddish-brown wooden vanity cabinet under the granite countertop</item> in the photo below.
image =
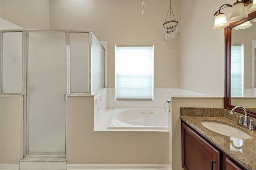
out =
[[183,121],[181,133],[184,170],[246,170]]

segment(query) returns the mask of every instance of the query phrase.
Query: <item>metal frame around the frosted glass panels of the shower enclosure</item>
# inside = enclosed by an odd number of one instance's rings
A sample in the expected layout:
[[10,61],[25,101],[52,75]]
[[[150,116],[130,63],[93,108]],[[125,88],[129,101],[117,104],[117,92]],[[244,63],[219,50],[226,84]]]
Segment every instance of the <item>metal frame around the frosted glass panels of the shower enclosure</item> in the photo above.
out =
[[[92,78],[89,74],[88,86],[89,92],[73,93],[70,92],[70,33],[81,32],[89,33],[89,71],[91,70],[91,55],[92,55],[92,32],[86,30],[0,30],[0,60],[2,61],[2,33],[3,32],[22,32],[22,93],[2,93],[2,64],[0,64],[0,95],[1,96],[23,96],[23,135],[21,141],[23,141],[23,153],[26,155],[58,155],[66,156],[66,152],[29,152],[29,32],[65,32],[66,33],[66,96],[80,96],[91,95],[91,81]],[[103,47],[103,46],[102,46]],[[104,47],[103,47],[104,48]],[[105,49],[105,48],[104,48]],[[106,54],[106,51],[105,51]],[[105,56],[106,57],[106,56]],[[2,63],[2,62],[1,62]],[[106,61],[105,61],[106,66]],[[106,67],[105,67],[106,70]],[[106,75],[105,75],[106,76]],[[105,80],[106,85],[106,80]]]

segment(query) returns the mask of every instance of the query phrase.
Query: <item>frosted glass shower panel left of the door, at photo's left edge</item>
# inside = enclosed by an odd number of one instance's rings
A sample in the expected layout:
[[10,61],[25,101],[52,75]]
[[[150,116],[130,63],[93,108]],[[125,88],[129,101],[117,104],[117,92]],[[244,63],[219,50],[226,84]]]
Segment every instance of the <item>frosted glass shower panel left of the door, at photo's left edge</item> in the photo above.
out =
[[22,93],[22,32],[2,33],[2,93]]

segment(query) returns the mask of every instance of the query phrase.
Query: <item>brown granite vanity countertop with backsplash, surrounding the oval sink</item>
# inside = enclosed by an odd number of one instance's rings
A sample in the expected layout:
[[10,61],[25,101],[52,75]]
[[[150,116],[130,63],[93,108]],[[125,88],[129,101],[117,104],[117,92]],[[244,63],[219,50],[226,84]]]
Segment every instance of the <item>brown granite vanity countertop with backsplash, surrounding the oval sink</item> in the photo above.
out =
[[[239,113],[236,113],[239,115]],[[244,166],[248,170],[256,170],[256,131],[249,131],[237,125],[237,116],[231,115],[230,110],[224,108],[196,108],[196,107],[181,107],[180,119],[190,125],[194,130],[223,150]],[[241,114],[240,114],[241,115]],[[249,119],[249,118],[248,118]],[[221,135],[204,127],[202,121],[221,121],[222,123],[236,127],[252,136],[251,139],[237,139]],[[254,119],[255,120],[255,119]],[[242,146],[237,146],[239,149],[232,147],[233,143],[238,140]],[[232,143],[232,144],[231,144]]]

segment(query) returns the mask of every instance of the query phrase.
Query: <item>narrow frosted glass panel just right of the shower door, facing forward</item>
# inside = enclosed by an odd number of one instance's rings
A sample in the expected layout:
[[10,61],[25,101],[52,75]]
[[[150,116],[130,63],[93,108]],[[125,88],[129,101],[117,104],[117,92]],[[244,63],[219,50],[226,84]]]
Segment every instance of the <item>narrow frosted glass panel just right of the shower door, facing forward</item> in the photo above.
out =
[[70,32],[70,92],[89,92],[89,33]]

